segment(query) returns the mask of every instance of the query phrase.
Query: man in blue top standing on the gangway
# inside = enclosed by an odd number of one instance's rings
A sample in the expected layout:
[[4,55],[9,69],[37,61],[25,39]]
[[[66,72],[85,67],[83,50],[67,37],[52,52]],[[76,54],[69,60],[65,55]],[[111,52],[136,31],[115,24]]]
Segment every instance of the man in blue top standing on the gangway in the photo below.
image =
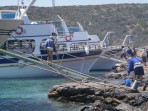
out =
[[49,60],[50,60],[52,62],[52,60],[53,60],[53,52],[56,52],[54,38],[52,36],[50,36],[46,40],[46,49],[47,49],[47,54],[48,54],[47,61],[49,62]]

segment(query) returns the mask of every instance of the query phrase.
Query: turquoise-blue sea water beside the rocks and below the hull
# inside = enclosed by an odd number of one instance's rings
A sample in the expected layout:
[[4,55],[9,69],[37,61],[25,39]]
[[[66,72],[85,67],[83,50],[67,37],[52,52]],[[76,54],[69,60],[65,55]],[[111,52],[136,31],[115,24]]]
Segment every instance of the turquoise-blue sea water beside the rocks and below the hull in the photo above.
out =
[[48,99],[48,90],[65,82],[71,81],[59,77],[0,79],[0,111],[79,111],[82,104]]

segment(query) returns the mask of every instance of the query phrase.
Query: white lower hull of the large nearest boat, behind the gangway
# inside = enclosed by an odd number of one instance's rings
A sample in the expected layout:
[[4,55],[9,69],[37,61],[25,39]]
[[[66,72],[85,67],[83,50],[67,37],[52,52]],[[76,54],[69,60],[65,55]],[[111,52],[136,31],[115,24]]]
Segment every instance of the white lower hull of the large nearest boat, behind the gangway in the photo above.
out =
[[[61,61],[54,61],[57,64],[61,64],[66,68],[73,69],[75,71],[88,73],[91,67],[98,60],[98,55],[85,57],[84,59],[67,59]],[[35,67],[38,68],[35,68]],[[40,69],[41,68],[41,69]],[[37,77],[51,77],[51,76],[60,76],[55,72],[50,72],[50,68],[47,70],[42,69],[44,67],[37,65],[23,65],[20,63],[5,64],[0,66],[0,79],[2,78],[37,78]]]

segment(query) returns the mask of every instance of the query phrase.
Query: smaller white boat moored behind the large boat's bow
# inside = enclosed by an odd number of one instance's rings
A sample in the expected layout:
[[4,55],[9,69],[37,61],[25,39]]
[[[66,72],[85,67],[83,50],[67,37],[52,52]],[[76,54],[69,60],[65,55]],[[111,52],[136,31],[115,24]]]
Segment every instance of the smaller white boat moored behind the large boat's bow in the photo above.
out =
[[121,60],[120,55],[122,52],[121,46],[132,46],[133,41],[131,40],[131,35],[126,35],[121,45],[110,46],[109,37],[110,34],[115,32],[109,31],[105,35],[104,39],[101,41],[101,48],[103,50],[102,55],[99,57],[97,62],[91,68],[91,71],[111,71],[116,64],[125,64],[126,61]]

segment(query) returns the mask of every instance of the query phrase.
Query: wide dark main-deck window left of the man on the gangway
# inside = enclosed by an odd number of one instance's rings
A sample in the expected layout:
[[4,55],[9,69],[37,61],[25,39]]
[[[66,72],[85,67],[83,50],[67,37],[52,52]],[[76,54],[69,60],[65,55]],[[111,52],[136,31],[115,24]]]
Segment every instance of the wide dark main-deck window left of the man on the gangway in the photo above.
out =
[[8,40],[6,42],[6,50],[18,51],[23,53],[32,53],[35,49],[35,40]]

